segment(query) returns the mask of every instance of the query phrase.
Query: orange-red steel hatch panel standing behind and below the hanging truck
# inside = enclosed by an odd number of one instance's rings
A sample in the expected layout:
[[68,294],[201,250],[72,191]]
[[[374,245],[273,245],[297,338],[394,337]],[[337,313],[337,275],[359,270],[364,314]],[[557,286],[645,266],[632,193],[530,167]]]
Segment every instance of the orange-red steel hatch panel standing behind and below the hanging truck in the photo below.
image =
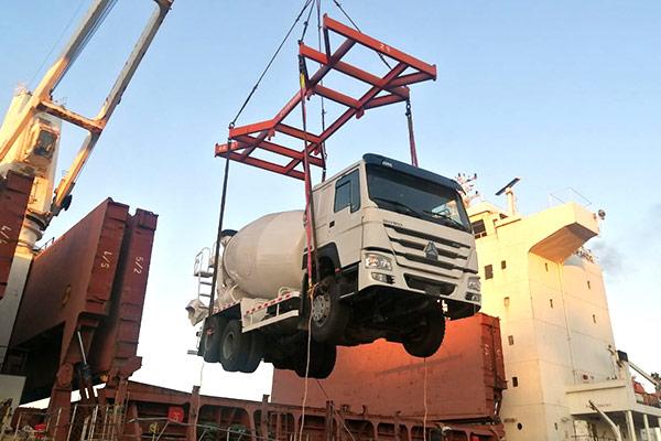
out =
[[[333,374],[310,380],[307,402],[369,412],[421,417],[424,413],[426,365],[427,416],[443,421],[497,422],[497,404],[506,388],[498,319],[476,314],[447,322],[441,349],[427,358],[408,355],[399,344],[382,340],[357,347],[338,347]],[[303,381],[289,370],[275,370],[273,400],[296,405]]]

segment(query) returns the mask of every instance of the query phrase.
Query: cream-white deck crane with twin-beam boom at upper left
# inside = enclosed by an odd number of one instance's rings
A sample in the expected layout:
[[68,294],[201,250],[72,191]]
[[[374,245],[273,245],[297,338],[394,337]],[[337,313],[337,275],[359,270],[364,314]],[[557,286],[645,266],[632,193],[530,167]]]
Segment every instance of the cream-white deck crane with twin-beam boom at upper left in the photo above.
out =
[[[68,207],[76,179],[174,0],[153,1],[156,8],[96,116],[86,117],[65,108],[54,100],[53,92],[104,22],[116,0],[93,1],[80,25],[34,92],[24,88],[17,92],[0,127],[0,176],[13,171],[34,179],[6,295],[0,300],[0,366],[4,363],[28,271],[35,254],[35,243],[42,237],[53,216]],[[67,174],[55,187],[62,121],[85,129],[88,135]]]

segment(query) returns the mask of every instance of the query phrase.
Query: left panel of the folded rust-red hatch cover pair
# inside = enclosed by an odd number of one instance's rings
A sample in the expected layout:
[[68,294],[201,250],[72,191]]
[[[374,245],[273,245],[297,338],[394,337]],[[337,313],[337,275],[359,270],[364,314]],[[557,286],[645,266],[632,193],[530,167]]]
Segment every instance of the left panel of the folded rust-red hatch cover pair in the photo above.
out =
[[106,200],[32,263],[11,346],[64,324],[69,342],[82,314],[106,314],[129,207]]

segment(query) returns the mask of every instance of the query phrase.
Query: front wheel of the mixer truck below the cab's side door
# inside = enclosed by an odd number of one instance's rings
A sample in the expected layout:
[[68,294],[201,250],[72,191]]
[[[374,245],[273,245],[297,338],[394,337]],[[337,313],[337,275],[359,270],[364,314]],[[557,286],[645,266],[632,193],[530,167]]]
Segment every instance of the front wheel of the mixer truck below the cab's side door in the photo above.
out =
[[315,287],[310,309],[312,337],[317,342],[337,343],[349,322],[349,308],[342,303],[335,276],[326,276]]

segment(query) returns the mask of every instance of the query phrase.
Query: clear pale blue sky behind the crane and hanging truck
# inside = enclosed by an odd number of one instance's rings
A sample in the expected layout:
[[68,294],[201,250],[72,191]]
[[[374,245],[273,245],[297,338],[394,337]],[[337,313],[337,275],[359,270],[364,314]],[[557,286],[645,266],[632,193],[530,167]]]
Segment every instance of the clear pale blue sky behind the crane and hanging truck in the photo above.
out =
[[[87,3],[3,4],[0,107],[17,83],[35,86],[45,72],[40,65],[59,53],[73,28],[47,56]],[[223,163],[213,147],[227,138],[227,123],[301,4],[176,0],[84,170],[72,208],[46,234],[66,230],[106,196],[160,215],[140,347],[144,368],[137,379],[183,389],[198,381],[199,362],[185,355],[195,338],[183,306],[194,294],[194,256],[215,234]],[[602,237],[588,247],[603,259],[616,342],[642,367],[660,370],[652,337],[661,312],[661,197],[653,184],[661,171],[661,3],[343,4],[367,33],[437,65],[435,83],[412,89],[422,166],[449,176],[476,172],[478,190],[496,203],[503,201],[494,192],[521,176],[523,213],[546,207],[549,194],[566,187],[587,197],[590,209],[606,211]],[[55,97],[96,114],[151,8],[148,0],[120,0]],[[342,20],[329,0],[323,8]],[[297,28],[239,123],[271,118],[296,90],[300,33]],[[373,56],[360,63],[381,68]],[[368,151],[407,160],[403,111],[391,106],[350,121],[328,142],[329,171]],[[79,138],[65,132],[62,170]],[[302,204],[299,182],[232,164],[227,227]],[[253,376],[204,370],[207,392],[260,398],[270,390],[268,366]]]

